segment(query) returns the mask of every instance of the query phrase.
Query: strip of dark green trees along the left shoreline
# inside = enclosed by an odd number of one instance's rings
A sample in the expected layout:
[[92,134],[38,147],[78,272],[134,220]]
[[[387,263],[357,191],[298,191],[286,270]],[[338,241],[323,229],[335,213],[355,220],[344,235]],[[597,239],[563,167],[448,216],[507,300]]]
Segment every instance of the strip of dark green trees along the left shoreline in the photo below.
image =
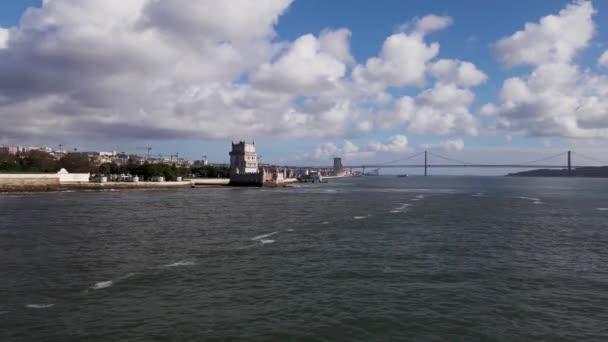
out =
[[12,155],[0,152],[0,172],[41,172],[56,173],[60,169],[70,173],[91,173],[97,175],[130,174],[139,176],[143,180],[152,177],[165,177],[166,180],[175,180],[177,177],[227,178],[229,169],[225,166],[180,167],[175,163],[148,163],[143,164],[129,161],[126,165],[116,163],[103,163],[96,165],[87,156],[78,153],[68,153],[56,159],[44,151],[29,151]]

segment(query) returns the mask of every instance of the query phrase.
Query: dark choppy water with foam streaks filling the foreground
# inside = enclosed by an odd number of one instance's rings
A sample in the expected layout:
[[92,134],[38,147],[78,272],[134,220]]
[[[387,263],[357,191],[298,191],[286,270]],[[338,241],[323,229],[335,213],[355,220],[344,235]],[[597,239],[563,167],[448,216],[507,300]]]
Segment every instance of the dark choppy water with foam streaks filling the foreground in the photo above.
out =
[[606,341],[607,306],[607,180],[0,195],[0,341]]

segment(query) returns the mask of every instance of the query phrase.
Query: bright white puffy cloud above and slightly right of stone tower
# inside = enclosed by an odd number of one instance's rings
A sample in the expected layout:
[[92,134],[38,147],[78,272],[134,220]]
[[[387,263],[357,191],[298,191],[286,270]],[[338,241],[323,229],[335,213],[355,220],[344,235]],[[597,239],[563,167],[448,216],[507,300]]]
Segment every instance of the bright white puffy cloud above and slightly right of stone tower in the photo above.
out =
[[[333,33],[326,32],[325,38]],[[342,39],[348,36],[339,34]],[[340,37],[330,38],[337,41]],[[286,91],[296,95],[316,95],[335,88],[344,77],[346,65],[322,50],[322,44],[313,35],[298,38],[278,60],[266,63],[251,75],[255,84],[273,90]],[[342,48],[338,53],[344,53]],[[349,53],[350,55],[350,53]],[[340,56],[345,58],[345,56]]]

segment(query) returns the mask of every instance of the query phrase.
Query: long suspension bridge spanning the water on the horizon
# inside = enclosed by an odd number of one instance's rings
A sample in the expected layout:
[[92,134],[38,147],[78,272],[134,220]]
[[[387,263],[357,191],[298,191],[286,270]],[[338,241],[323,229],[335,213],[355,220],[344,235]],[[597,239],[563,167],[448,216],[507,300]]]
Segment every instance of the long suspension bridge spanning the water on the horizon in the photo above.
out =
[[[422,159],[424,156],[424,161],[419,161],[418,163],[414,162],[416,158]],[[584,162],[592,164],[573,164],[573,156],[576,156],[576,160],[582,159]],[[432,158],[432,160],[431,160]],[[563,163],[555,163],[550,164],[549,161],[553,161],[556,159],[563,160]],[[439,161],[439,163],[437,163]],[[361,165],[348,165],[344,166],[347,169],[356,170],[361,169],[365,174],[365,169],[386,169],[386,168],[424,168],[424,175],[428,175],[429,168],[511,168],[511,169],[568,169],[570,173],[572,169],[576,168],[585,168],[585,167],[598,167],[608,165],[607,162],[599,160],[594,157],[587,156],[582,153],[575,153],[573,151],[565,151],[560,152],[548,157],[543,157],[536,160],[524,161],[520,163],[507,163],[507,164],[489,164],[489,163],[471,163],[463,160],[458,160],[454,158],[449,158],[442,156],[437,153],[422,151],[405,158],[392,160],[385,163],[375,163],[375,164],[361,164]]]

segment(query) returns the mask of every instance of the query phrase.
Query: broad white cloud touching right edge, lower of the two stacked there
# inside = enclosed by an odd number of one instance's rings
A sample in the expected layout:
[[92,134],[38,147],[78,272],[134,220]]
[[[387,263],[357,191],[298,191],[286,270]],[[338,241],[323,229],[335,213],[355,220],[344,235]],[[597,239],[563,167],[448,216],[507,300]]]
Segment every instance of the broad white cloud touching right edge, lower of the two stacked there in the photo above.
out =
[[546,64],[501,90],[499,128],[535,136],[608,137],[608,77]]

